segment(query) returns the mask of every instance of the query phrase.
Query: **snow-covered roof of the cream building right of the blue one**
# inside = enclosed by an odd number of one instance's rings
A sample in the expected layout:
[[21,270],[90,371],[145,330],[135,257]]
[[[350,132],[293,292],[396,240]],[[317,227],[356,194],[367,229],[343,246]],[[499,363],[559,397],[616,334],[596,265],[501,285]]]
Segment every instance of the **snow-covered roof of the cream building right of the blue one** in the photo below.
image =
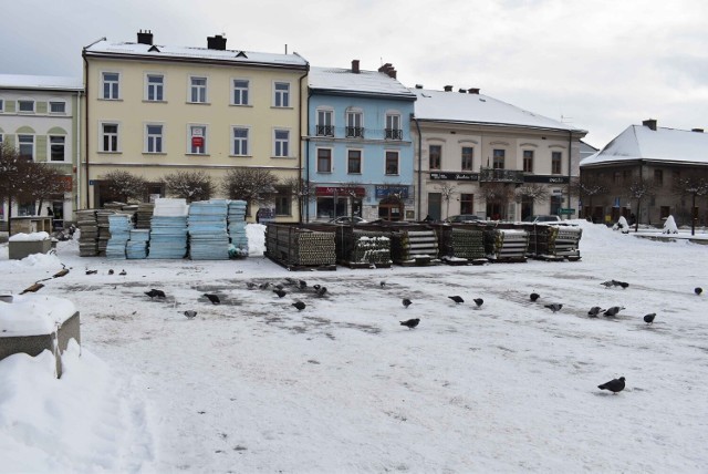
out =
[[412,89],[418,120],[583,132],[489,95]]

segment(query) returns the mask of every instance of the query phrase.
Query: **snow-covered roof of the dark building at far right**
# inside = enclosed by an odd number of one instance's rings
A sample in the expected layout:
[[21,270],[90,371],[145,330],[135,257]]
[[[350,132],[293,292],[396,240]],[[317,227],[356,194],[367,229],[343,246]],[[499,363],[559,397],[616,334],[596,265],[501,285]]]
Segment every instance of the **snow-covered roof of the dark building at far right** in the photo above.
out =
[[583,159],[580,165],[636,159],[708,164],[708,134],[629,125],[604,148]]

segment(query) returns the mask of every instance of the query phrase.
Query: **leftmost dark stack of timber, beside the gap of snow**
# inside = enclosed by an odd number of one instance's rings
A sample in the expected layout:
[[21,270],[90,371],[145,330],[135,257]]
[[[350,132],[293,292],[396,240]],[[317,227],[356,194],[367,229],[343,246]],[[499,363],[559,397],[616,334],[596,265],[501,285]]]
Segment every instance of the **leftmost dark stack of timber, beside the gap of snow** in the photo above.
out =
[[266,256],[290,269],[313,267],[334,269],[336,265],[334,231],[317,231],[269,223],[266,228]]

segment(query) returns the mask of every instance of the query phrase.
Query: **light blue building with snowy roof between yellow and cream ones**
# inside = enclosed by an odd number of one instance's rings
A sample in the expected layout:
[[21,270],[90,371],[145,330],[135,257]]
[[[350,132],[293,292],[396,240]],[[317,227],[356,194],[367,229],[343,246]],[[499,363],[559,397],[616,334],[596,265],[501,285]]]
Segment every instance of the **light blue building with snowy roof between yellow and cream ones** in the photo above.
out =
[[305,221],[339,216],[414,218],[410,115],[416,95],[384,64],[378,71],[311,68]]

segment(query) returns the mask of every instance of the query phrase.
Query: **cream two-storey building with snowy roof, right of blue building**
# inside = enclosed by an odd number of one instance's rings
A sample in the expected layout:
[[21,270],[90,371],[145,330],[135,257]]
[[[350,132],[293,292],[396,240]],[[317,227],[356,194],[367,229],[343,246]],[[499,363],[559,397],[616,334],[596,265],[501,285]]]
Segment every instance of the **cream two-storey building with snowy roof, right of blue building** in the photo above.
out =
[[570,183],[585,131],[478,89],[412,92],[418,218],[575,215]]

